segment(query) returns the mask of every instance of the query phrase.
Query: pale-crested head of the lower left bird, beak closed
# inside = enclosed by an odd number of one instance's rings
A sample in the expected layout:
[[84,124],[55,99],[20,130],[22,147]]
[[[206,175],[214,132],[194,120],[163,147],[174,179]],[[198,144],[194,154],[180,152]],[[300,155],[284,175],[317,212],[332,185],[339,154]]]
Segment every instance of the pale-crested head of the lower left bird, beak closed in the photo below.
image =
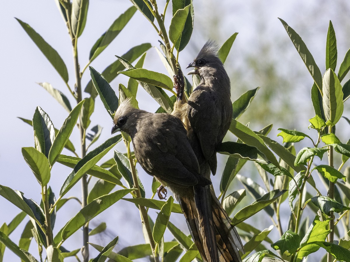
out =
[[141,110],[134,108],[130,99],[121,103],[114,115],[112,134],[118,131],[125,131],[131,135],[133,126],[136,124],[135,114],[137,115],[138,111]]

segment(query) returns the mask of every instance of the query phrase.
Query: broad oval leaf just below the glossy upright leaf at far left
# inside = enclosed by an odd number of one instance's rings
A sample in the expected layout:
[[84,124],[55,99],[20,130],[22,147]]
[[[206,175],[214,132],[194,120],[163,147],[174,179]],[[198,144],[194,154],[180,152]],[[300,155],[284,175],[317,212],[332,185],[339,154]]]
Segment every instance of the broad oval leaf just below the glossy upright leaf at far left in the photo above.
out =
[[22,147],[22,154],[42,187],[50,180],[50,165],[45,155],[34,147]]

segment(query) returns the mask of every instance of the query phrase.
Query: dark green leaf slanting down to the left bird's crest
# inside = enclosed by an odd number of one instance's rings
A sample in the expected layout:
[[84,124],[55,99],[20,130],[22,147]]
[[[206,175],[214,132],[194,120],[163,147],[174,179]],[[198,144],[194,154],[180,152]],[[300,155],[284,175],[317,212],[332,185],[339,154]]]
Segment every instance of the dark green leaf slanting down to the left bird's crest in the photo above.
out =
[[89,66],[89,69],[92,83],[100,95],[100,99],[102,100],[103,105],[109,112],[110,116],[113,118],[111,114],[113,114],[118,108],[118,97],[116,96],[116,93],[107,82],[107,80],[99,72],[94,70],[94,68],[91,66]]

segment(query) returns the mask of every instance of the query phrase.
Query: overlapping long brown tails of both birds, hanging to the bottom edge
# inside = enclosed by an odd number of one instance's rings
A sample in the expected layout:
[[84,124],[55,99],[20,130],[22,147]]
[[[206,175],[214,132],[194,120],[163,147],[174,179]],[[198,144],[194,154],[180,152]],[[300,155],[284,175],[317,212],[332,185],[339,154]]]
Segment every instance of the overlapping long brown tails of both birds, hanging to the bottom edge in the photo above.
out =
[[210,185],[197,185],[178,200],[203,261],[241,262],[237,248],[243,245]]

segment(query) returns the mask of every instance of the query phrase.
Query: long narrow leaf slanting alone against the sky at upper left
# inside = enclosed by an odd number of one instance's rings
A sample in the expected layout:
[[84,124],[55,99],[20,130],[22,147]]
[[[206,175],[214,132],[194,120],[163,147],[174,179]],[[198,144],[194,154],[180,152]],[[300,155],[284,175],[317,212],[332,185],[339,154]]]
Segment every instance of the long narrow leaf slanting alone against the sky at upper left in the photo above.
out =
[[36,44],[36,46],[40,49],[40,51],[44,54],[44,56],[49,60],[51,65],[56,69],[59,75],[61,75],[63,81],[68,83],[68,71],[67,67],[64,64],[62,58],[59,56],[57,51],[52,48],[45,40],[33,29],[29,26],[29,24],[19,20],[16,20],[21,24],[23,29],[29,35],[31,40]]

